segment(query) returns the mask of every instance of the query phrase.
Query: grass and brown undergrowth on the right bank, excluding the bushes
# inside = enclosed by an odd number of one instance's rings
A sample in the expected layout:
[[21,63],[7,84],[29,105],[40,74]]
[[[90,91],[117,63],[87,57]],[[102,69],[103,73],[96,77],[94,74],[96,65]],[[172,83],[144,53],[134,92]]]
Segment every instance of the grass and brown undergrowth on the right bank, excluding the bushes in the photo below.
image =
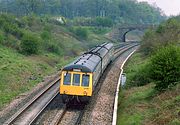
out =
[[141,73],[147,63],[141,53],[136,53],[125,66],[127,86],[121,89],[118,108],[118,125],[179,125],[180,84],[158,93],[154,84],[130,87],[135,74]]

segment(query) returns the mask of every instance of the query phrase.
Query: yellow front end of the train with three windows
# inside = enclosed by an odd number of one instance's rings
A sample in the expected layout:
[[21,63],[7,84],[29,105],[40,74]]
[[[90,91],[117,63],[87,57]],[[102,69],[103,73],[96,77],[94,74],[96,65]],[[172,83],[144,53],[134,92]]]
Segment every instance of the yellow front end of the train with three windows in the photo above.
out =
[[62,71],[60,94],[63,101],[75,98],[80,102],[87,102],[92,96],[92,73],[78,71]]

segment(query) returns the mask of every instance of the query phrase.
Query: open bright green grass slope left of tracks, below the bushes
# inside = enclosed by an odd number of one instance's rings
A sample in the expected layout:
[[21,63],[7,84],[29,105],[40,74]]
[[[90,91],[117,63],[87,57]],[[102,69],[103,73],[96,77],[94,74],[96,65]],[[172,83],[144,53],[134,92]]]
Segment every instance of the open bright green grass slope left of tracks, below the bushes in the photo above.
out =
[[26,57],[15,50],[0,46],[0,109],[72,59],[72,57],[59,57],[56,54]]

